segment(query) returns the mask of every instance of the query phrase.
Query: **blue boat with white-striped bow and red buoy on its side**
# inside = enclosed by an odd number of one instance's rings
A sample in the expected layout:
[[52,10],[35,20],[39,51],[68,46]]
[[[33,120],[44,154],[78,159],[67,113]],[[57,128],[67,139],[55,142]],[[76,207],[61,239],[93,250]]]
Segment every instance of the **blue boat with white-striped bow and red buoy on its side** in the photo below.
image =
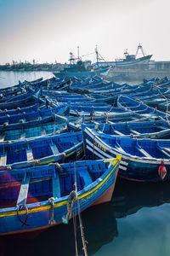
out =
[[119,176],[138,182],[170,179],[170,140],[115,137],[82,125],[86,159],[122,154]]

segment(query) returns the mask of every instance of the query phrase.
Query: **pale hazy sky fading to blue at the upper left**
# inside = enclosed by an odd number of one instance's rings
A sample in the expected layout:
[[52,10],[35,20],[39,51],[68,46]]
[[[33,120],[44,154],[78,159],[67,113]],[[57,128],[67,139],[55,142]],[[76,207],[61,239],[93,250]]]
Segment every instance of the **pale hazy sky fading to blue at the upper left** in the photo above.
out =
[[[0,64],[68,61],[69,52],[105,61],[135,54],[170,61],[169,0],[0,0]],[[95,61],[95,55],[85,59]]]

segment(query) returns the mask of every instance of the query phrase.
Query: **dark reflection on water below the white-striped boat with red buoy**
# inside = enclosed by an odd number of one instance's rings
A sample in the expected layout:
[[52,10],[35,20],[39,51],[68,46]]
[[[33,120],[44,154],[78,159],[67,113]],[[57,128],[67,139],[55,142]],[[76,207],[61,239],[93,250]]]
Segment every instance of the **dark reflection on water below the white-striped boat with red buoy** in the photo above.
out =
[[116,218],[138,212],[142,207],[158,207],[170,202],[170,184],[134,183],[120,178],[116,180],[116,189],[112,204]]

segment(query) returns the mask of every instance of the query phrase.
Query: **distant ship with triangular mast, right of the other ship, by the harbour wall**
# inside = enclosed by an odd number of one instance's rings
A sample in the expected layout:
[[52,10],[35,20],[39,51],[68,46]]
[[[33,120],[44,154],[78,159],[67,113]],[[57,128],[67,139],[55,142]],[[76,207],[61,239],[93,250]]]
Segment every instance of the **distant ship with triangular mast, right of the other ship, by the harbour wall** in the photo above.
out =
[[[141,50],[143,57],[137,58],[139,50]],[[150,61],[150,58],[152,56],[152,55],[144,55],[144,50],[143,50],[141,44],[139,44],[139,46],[138,46],[136,55],[129,55],[129,53],[127,52],[127,49],[124,52],[124,55],[125,55],[125,57],[123,59],[116,59],[115,61],[103,61],[102,60],[102,61],[99,61],[99,63],[95,63],[95,65],[98,65],[98,67],[106,67],[106,66],[130,67],[130,66],[137,65],[137,64],[148,64]]]

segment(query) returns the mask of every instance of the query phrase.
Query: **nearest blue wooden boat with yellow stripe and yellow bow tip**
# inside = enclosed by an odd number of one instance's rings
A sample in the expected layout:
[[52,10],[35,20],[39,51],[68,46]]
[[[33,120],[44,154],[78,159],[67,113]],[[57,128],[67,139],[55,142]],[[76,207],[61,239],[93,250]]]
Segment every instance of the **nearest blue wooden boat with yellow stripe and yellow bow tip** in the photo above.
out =
[[111,201],[120,160],[0,171],[0,236],[45,230]]

